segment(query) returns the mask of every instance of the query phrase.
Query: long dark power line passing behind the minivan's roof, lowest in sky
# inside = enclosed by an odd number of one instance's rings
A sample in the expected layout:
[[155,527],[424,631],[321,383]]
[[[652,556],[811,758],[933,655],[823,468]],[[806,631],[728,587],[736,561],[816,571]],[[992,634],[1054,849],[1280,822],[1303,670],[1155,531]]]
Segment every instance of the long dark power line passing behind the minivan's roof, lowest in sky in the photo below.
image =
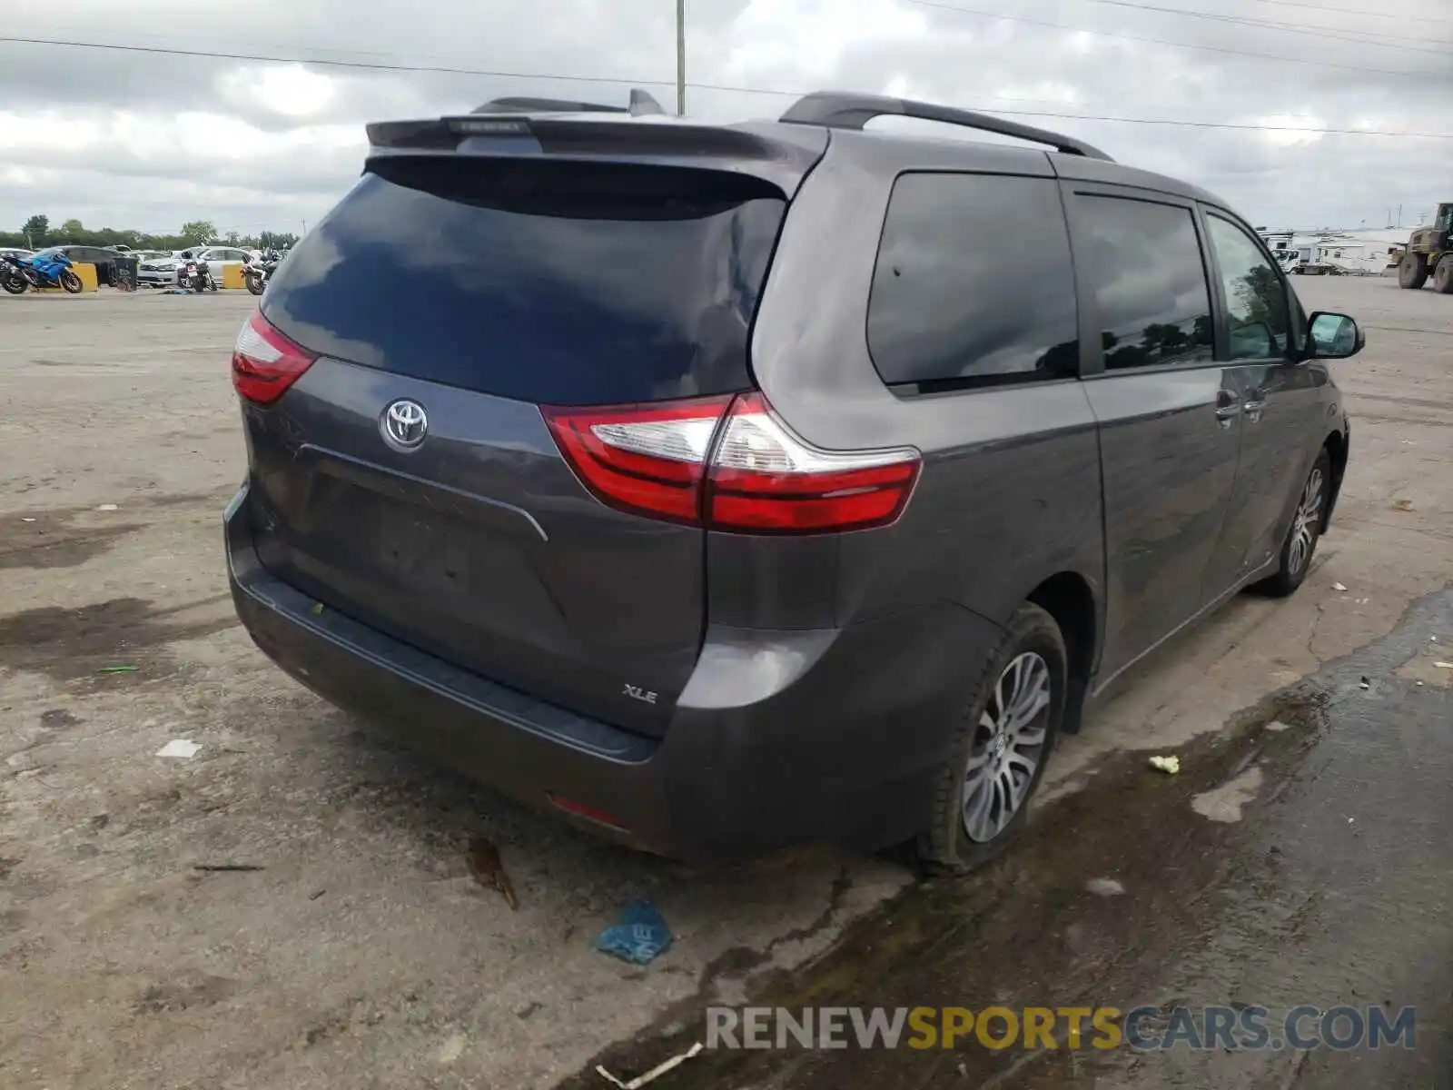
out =
[[[927,0],[914,0],[914,1],[927,3]],[[487,68],[462,68],[452,65],[389,64],[384,61],[324,61],[324,60],[311,60],[307,57],[275,57],[264,54],[212,52],[206,49],[173,49],[155,45],[119,45],[113,42],[71,42],[54,38],[0,36],[0,42],[57,45],[57,47],[83,48],[83,49],[115,49],[119,52],[166,54],[166,55],[202,57],[209,60],[228,60],[228,61],[260,61],[267,64],[317,64],[317,65],[340,67],[340,68],[363,68],[363,70],[427,73],[427,74],[448,73],[453,76],[487,76],[487,77],[513,78],[513,80],[561,80],[574,83],[597,83],[597,84],[607,83],[616,86],[634,84],[634,86],[649,86],[649,87],[676,86],[674,80],[641,80],[641,78],[626,78],[616,76],[567,76],[564,73],[495,71]],[[697,90],[715,90],[731,94],[770,94],[788,99],[799,99],[804,94],[809,93],[805,90],[779,90],[774,87],[742,87],[726,83],[690,83],[687,86],[696,87]],[[988,112],[992,113],[1004,113],[1007,116],[1017,116],[1017,118],[1056,118],[1061,121],[1103,121],[1122,125],[1164,125],[1164,126],[1178,126],[1178,128],[1193,128],[1193,129],[1231,129],[1242,132],[1314,132],[1318,135],[1344,135],[1344,137],[1391,137],[1391,138],[1402,137],[1407,140],[1453,140],[1453,132],[1395,132],[1391,129],[1334,129],[1334,128],[1315,128],[1308,125],[1261,125],[1261,124],[1254,125],[1254,124],[1212,122],[1212,121],[1178,121],[1174,118],[1126,118],[1110,113],[1014,110],[1014,109],[1000,109],[997,106],[988,106],[979,109],[987,109]]]

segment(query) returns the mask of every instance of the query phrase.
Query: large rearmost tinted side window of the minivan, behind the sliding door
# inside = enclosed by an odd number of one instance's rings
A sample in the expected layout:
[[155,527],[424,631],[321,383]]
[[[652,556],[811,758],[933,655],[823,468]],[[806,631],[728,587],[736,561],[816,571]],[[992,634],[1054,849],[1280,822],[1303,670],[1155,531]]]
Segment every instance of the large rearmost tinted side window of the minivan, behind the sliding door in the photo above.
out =
[[898,179],[867,307],[883,382],[934,389],[1075,375],[1075,321],[1053,180]]

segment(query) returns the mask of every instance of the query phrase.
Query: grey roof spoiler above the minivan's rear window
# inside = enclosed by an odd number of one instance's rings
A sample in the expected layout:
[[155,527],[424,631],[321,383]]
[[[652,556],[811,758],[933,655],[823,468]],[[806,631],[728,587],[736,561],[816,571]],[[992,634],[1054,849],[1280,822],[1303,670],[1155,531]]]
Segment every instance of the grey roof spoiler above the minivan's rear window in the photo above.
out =
[[[461,116],[381,121],[366,126],[368,163],[400,156],[580,158],[721,170],[772,183],[789,199],[827,151],[825,129],[780,125],[700,125],[665,115],[629,115],[555,100],[500,102]],[[539,109],[545,105],[546,109]],[[555,106],[570,105],[570,110]],[[366,169],[366,167],[365,167]]]

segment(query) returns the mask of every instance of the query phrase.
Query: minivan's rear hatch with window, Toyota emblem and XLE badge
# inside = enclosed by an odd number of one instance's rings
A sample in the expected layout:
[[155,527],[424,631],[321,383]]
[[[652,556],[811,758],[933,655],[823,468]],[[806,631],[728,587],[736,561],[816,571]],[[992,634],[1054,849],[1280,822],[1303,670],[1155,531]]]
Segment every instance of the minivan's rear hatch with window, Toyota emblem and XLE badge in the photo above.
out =
[[244,400],[262,562],[456,666],[660,734],[702,641],[705,530],[602,503],[542,407],[748,389],[786,198],[660,161],[371,160],[263,301],[317,359]]

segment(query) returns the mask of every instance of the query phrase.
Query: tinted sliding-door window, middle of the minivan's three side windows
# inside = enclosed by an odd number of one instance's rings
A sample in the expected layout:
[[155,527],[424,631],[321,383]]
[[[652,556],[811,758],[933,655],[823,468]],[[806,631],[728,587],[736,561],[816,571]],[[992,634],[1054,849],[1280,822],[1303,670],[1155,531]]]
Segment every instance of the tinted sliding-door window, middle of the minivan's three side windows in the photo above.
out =
[[1190,209],[1075,198],[1107,369],[1210,360],[1210,289]]

